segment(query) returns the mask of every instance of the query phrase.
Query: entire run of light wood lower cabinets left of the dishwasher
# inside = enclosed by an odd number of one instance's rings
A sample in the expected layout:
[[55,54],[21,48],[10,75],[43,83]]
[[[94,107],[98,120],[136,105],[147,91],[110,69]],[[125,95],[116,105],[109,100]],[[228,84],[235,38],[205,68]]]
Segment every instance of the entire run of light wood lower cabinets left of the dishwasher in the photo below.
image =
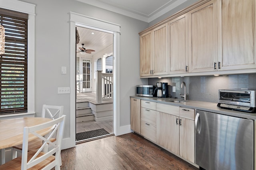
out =
[[131,98],[131,128],[166,150],[195,163],[194,109],[144,100],[139,103],[139,100]]

